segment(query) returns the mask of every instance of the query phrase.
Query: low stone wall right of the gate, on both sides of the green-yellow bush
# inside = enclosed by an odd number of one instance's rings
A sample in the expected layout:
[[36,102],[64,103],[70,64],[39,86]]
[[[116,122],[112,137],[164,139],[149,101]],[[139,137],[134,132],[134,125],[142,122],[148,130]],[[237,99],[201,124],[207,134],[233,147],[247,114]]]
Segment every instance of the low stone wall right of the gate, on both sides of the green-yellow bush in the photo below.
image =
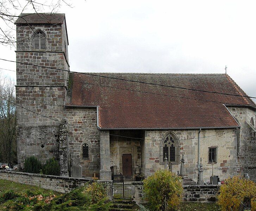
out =
[[[183,185],[184,202],[216,202],[220,185]],[[137,204],[147,203],[143,200],[143,182],[132,182],[133,201]]]

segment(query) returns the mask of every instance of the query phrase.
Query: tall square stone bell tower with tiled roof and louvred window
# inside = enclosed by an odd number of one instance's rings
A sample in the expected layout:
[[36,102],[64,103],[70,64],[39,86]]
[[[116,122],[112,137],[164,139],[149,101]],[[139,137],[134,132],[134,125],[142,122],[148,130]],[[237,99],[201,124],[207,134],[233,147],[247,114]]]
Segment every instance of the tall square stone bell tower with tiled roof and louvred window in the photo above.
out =
[[16,60],[20,62],[16,66],[16,103],[39,114],[17,107],[18,164],[23,166],[30,155],[43,163],[59,156],[69,75],[68,34],[65,14],[24,13],[15,25]]

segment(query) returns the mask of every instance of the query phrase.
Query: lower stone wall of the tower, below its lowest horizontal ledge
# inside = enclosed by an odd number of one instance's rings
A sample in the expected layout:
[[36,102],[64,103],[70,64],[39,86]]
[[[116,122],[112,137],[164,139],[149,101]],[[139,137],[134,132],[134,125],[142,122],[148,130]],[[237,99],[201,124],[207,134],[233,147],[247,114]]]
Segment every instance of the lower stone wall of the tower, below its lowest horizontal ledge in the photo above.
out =
[[[16,87],[16,103],[52,119],[64,116],[64,87]],[[28,155],[38,156],[42,162],[56,156],[60,123],[17,106],[18,163]]]

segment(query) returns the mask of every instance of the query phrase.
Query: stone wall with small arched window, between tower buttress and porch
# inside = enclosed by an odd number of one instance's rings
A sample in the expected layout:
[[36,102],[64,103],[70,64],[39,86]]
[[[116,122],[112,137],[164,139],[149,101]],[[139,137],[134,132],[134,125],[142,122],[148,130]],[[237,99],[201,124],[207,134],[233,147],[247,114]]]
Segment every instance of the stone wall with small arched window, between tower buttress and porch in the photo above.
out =
[[[73,165],[82,166],[83,176],[92,177],[96,173],[96,177],[99,177],[100,135],[97,127],[96,108],[66,107],[64,112],[67,116],[67,123],[75,126],[67,126],[69,153]],[[89,158],[82,156],[84,143],[89,146]]]

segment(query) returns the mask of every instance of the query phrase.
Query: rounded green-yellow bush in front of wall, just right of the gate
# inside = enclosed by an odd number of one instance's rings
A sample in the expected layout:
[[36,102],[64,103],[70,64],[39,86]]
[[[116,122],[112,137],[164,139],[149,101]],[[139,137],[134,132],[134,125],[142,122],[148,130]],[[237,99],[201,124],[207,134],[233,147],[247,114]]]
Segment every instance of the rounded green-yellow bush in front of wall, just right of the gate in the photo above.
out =
[[181,202],[181,177],[168,170],[158,170],[143,180],[143,191],[152,211],[171,211]]

